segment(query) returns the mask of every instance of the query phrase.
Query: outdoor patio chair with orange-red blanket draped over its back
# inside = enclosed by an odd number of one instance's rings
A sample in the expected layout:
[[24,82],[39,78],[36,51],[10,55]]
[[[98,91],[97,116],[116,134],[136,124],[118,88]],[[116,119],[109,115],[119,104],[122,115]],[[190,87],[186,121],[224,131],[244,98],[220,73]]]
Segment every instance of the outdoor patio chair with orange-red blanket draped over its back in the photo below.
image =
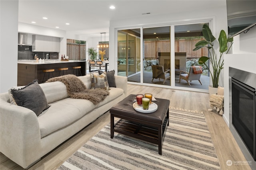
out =
[[[200,77],[201,77],[202,72],[203,72],[202,66],[191,66],[190,69],[189,69],[189,72],[185,72],[183,70],[180,70],[180,79],[184,79],[187,82],[188,81],[191,82],[192,80],[198,80],[200,82],[200,84],[202,85],[202,83],[200,81]],[[190,86],[189,82],[188,82],[188,84]]]

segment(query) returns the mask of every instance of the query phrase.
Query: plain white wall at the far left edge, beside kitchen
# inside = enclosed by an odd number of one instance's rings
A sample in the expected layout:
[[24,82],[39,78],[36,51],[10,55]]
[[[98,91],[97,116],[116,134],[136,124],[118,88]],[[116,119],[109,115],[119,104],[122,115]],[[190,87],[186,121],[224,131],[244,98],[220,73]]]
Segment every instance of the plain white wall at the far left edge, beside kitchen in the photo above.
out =
[[18,0],[0,0],[0,93],[17,86]]

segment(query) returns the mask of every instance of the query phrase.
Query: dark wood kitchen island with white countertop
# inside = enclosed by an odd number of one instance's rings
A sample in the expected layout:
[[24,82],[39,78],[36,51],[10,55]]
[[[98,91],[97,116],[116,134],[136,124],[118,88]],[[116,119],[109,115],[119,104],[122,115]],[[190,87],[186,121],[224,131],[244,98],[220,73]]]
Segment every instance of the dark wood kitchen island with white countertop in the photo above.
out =
[[[35,60],[18,61],[18,79],[17,86],[26,86],[33,80],[38,80],[38,83],[42,83],[44,72],[43,70],[54,69],[53,76],[59,76],[58,68],[68,68],[68,74],[73,74],[73,67],[81,66],[82,76],[86,75],[86,61],[69,60],[48,60],[44,63],[37,63]],[[66,71],[65,71],[66,73]],[[74,73],[76,74],[76,73]],[[61,74],[62,75],[62,74]],[[50,74],[52,76],[52,74]],[[48,73],[44,81],[48,78]]]

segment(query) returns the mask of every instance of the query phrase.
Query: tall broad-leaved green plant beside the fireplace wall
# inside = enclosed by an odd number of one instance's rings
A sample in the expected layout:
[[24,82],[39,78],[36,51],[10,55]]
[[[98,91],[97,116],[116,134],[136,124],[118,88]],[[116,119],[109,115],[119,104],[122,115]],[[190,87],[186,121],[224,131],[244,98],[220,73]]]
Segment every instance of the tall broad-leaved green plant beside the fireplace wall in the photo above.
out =
[[[212,35],[212,31],[210,30],[207,24],[203,25],[202,33],[205,40],[202,40],[196,43],[195,45],[196,48],[194,48],[193,51],[201,49],[202,47],[206,47],[208,49],[210,56],[200,57],[200,59],[198,60],[198,63],[200,65],[206,66],[212,78],[212,86],[214,88],[218,88],[220,72],[223,69],[223,65],[224,65],[224,59],[222,58],[222,55],[224,54],[224,52],[228,53],[228,51],[230,50],[230,47],[233,44],[233,38],[227,38],[225,31],[221,30],[218,41],[217,41],[216,38]],[[232,42],[229,48],[228,48],[228,42]],[[219,52],[217,52],[216,49],[214,49],[214,45],[216,45],[216,43],[219,44],[219,48],[220,48]],[[208,67],[207,61],[210,61],[210,64],[212,64],[212,70]]]

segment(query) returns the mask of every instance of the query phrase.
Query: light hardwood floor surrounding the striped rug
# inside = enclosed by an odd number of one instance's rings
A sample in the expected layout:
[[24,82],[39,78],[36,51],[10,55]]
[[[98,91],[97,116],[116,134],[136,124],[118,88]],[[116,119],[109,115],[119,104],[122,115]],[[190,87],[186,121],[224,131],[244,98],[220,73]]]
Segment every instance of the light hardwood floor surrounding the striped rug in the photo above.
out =
[[[246,161],[246,159],[222,116],[215,112],[207,111],[210,108],[208,102],[209,94],[128,84],[128,94],[143,94],[145,92],[151,92],[156,98],[170,100],[170,106],[172,107],[203,111],[222,170],[251,170],[249,165],[233,164],[232,166],[227,166],[227,160]],[[108,112],[44,156],[29,170],[55,170],[109,122],[110,114]],[[2,153],[0,154],[0,170],[20,169],[22,170],[23,168],[6,158]]]

